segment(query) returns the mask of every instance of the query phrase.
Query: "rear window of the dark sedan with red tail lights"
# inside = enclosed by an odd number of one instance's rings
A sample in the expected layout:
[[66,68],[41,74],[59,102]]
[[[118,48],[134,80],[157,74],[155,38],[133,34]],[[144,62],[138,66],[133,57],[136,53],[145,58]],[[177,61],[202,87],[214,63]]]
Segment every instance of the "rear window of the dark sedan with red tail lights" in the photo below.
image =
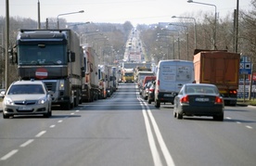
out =
[[186,86],[186,94],[195,94],[195,93],[212,94],[212,95],[219,94],[217,88],[215,88],[214,86],[199,86],[199,85]]

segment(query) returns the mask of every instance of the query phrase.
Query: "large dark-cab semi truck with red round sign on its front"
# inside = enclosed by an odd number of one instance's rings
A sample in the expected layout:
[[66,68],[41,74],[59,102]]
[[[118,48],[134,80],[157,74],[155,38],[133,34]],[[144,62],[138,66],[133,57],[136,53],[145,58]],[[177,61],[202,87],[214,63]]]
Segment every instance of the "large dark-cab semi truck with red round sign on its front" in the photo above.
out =
[[42,80],[52,104],[71,109],[82,103],[83,64],[79,36],[70,29],[19,30],[10,61],[19,80]]

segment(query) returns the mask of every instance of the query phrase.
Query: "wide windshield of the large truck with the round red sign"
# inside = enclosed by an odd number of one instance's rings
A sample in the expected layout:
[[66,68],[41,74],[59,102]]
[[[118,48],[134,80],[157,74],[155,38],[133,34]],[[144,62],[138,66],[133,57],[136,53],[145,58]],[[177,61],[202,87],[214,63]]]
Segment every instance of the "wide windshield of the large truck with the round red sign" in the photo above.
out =
[[18,63],[22,65],[64,65],[67,54],[64,45],[19,45]]

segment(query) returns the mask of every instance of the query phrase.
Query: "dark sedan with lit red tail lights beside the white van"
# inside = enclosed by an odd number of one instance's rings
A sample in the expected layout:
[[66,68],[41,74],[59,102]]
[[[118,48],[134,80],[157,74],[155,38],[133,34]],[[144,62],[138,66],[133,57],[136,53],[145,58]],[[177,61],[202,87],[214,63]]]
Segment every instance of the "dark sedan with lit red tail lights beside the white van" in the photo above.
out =
[[174,98],[173,116],[211,116],[224,121],[224,99],[218,88],[208,83],[186,83]]

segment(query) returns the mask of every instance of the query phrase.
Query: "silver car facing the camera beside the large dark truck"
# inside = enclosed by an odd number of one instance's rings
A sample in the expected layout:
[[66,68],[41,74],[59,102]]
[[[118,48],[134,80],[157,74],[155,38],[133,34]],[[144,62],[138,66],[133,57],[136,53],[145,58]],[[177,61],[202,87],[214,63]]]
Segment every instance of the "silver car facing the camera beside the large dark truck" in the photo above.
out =
[[17,81],[12,83],[3,100],[3,118],[14,115],[52,115],[51,92],[41,81]]

